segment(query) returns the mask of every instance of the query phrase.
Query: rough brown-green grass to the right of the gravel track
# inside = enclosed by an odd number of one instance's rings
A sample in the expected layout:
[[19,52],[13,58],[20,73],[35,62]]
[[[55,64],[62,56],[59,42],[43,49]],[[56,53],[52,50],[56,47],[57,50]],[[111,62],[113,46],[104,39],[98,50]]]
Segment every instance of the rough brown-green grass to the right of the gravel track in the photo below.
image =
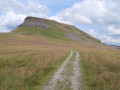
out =
[[120,90],[119,51],[81,51],[82,90]]

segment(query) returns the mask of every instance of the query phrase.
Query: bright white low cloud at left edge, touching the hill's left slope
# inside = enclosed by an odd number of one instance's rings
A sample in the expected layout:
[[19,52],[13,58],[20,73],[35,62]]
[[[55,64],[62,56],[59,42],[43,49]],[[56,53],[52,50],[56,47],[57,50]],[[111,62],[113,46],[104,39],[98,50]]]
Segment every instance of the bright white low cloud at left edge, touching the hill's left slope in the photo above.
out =
[[7,12],[5,15],[0,16],[0,31],[1,32],[9,32],[13,29],[16,25],[19,25],[23,22],[26,15],[15,13],[13,11]]

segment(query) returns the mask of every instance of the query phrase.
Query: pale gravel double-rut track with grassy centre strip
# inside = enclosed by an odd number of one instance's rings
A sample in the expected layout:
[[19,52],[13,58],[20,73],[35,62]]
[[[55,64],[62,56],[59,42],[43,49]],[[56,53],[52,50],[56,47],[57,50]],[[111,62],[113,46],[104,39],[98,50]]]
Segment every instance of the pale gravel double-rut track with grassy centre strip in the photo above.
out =
[[43,90],[80,90],[79,53],[72,51]]

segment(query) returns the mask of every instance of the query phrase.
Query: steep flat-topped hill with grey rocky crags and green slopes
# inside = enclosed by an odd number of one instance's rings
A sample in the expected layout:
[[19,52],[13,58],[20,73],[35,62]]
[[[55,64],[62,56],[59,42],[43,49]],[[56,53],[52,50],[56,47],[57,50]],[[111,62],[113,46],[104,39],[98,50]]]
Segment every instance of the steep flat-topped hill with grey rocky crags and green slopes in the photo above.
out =
[[36,17],[26,17],[24,22],[11,33],[25,35],[35,34],[57,39],[70,39],[78,42],[100,43],[100,40],[90,36],[89,34],[72,25]]

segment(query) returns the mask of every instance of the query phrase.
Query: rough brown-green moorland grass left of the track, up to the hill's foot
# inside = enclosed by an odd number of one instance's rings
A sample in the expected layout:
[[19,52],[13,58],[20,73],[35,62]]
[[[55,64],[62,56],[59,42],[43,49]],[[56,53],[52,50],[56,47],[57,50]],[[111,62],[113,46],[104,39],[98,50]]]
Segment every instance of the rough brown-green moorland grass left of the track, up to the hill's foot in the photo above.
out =
[[69,51],[64,41],[43,36],[2,34],[0,42],[0,90],[39,90]]

